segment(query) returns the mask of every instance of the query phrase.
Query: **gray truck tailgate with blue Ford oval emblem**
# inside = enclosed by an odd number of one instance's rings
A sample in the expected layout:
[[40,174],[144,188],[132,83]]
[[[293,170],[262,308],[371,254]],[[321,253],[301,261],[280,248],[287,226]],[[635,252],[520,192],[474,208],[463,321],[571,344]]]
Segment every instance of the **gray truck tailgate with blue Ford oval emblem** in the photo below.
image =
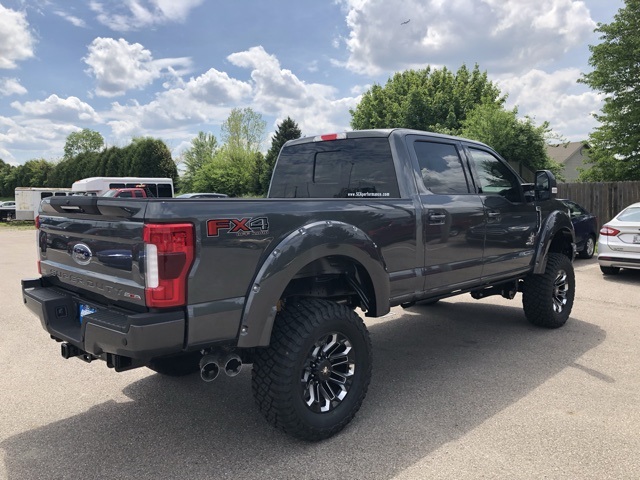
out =
[[145,306],[144,201],[63,197],[41,206],[40,268],[51,283],[104,303]]

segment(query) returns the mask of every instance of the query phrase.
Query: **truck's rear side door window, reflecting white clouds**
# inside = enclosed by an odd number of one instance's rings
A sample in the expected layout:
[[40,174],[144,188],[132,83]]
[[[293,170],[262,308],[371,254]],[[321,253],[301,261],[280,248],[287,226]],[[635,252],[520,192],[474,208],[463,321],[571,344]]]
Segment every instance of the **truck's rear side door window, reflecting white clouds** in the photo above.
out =
[[469,193],[467,179],[455,145],[415,142],[414,149],[424,186],[433,193]]

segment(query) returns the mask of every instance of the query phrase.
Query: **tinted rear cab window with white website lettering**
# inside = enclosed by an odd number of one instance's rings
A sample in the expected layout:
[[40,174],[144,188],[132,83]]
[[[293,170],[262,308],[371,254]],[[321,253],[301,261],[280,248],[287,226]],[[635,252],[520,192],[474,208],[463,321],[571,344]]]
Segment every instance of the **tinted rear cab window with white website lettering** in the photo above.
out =
[[350,138],[286,147],[275,168],[271,198],[398,198],[386,138]]

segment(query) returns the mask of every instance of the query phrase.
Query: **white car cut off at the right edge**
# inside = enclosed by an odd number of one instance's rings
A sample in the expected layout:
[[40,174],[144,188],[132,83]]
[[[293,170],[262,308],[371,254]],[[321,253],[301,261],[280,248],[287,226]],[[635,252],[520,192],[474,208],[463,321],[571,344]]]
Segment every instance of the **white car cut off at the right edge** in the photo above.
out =
[[605,275],[616,275],[620,268],[640,269],[640,203],[629,205],[602,226],[598,263]]

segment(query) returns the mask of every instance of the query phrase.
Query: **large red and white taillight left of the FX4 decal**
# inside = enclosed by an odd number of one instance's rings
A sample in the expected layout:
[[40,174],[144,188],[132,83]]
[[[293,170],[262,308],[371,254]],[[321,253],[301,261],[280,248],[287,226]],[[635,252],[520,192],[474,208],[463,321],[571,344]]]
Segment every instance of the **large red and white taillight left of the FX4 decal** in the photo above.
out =
[[184,305],[187,299],[187,275],[194,257],[193,225],[146,224],[143,238],[147,306]]

